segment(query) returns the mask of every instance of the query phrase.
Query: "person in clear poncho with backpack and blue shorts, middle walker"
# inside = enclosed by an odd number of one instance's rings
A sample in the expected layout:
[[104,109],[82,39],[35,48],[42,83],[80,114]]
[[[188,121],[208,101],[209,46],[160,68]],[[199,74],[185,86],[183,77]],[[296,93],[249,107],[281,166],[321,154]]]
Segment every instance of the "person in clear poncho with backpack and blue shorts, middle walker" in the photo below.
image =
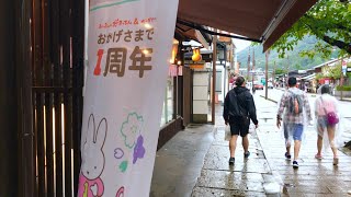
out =
[[282,95],[279,104],[276,126],[278,128],[281,127],[283,117],[283,130],[286,146],[285,158],[291,160],[291,141],[294,140],[293,167],[297,169],[301,141],[306,125],[305,119],[308,118],[309,121],[312,120],[310,106],[307,94],[296,88],[296,78],[290,78],[287,80],[287,85],[288,89]]

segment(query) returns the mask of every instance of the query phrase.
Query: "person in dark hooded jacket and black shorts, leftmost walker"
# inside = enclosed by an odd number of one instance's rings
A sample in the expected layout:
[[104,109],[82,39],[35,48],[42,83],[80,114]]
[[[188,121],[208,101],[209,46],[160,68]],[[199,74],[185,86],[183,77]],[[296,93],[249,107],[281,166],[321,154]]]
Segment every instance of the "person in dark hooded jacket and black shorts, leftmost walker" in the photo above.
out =
[[248,150],[250,119],[256,125],[256,128],[258,128],[259,124],[256,116],[254,101],[250,90],[245,86],[245,79],[238,77],[235,84],[236,88],[231,89],[226,95],[223,111],[225,124],[229,124],[231,132],[231,139],[229,140],[229,165],[233,165],[235,162],[235,149],[239,135],[242,138],[244,157],[248,158],[250,155]]

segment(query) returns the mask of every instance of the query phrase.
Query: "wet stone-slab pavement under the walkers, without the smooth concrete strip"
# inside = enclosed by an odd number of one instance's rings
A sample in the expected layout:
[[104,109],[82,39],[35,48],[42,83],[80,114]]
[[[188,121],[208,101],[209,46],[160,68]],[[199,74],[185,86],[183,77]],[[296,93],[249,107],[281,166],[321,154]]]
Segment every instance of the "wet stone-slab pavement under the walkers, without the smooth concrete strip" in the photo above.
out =
[[[224,140],[224,121],[216,112],[214,140],[204,158],[193,197],[212,196],[351,196],[351,157],[339,151],[339,165],[332,165],[332,153],[316,160],[314,127],[308,127],[302,144],[298,170],[284,158],[285,144],[275,127],[276,104],[256,96],[259,129],[250,129],[251,155],[244,159],[238,138],[236,161],[228,165],[228,141]],[[293,151],[292,151],[293,153]]]

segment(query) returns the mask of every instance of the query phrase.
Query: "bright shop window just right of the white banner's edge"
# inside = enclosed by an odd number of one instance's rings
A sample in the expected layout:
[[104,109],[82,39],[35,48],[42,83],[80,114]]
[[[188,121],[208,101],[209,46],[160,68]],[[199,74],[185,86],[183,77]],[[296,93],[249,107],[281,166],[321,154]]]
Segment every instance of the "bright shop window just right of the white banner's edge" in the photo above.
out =
[[173,77],[167,79],[166,96],[161,117],[161,126],[173,119]]

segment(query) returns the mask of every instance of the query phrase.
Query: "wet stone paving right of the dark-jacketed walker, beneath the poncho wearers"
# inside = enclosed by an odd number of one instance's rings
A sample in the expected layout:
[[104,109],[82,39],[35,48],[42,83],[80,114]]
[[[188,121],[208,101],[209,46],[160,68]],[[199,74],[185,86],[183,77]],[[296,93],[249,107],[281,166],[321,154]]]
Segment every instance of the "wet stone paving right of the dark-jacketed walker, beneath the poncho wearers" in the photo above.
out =
[[[263,100],[263,99],[260,99]],[[263,100],[264,107],[259,109],[261,118],[272,117],[272,102]],[[284,154],[284,141],[281,131],[272,127],[275,119],[261,124],[258,137],[264,155],[273,174],[279,174],[282,181],[283,194],[288,196],[347,196],[351,189],[351,157],[339,151],[340,163],[332,165],[331,151],[325,153],[322,160],[314,158],[316,153],[317,134],[314,127],[306,130],[306,141],[302,144],[299,169],[293,170]]]

